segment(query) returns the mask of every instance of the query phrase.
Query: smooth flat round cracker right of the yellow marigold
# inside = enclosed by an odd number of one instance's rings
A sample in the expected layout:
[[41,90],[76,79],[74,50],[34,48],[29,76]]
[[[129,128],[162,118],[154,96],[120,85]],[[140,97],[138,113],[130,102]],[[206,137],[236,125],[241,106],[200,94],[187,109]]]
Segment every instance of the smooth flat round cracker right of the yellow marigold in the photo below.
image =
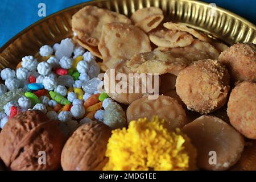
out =
[[185,125],[182,131],[197,149],[200,169],[226,170],[240,159],[243,137],[220,118],[203,115]]

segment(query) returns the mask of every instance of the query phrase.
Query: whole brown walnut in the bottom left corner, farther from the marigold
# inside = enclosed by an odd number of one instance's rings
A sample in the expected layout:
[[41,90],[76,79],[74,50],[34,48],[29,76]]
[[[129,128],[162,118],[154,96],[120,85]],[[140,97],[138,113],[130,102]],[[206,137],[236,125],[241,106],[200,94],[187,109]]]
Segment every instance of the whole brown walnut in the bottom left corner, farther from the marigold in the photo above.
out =
[[[28,110],[9,119],[1,131],[0,157],[11,170],[59,169],[65,140],[59,121],[49,120],[41,111]],[[46,152],[46,165],[39,164],[39,151]]]

